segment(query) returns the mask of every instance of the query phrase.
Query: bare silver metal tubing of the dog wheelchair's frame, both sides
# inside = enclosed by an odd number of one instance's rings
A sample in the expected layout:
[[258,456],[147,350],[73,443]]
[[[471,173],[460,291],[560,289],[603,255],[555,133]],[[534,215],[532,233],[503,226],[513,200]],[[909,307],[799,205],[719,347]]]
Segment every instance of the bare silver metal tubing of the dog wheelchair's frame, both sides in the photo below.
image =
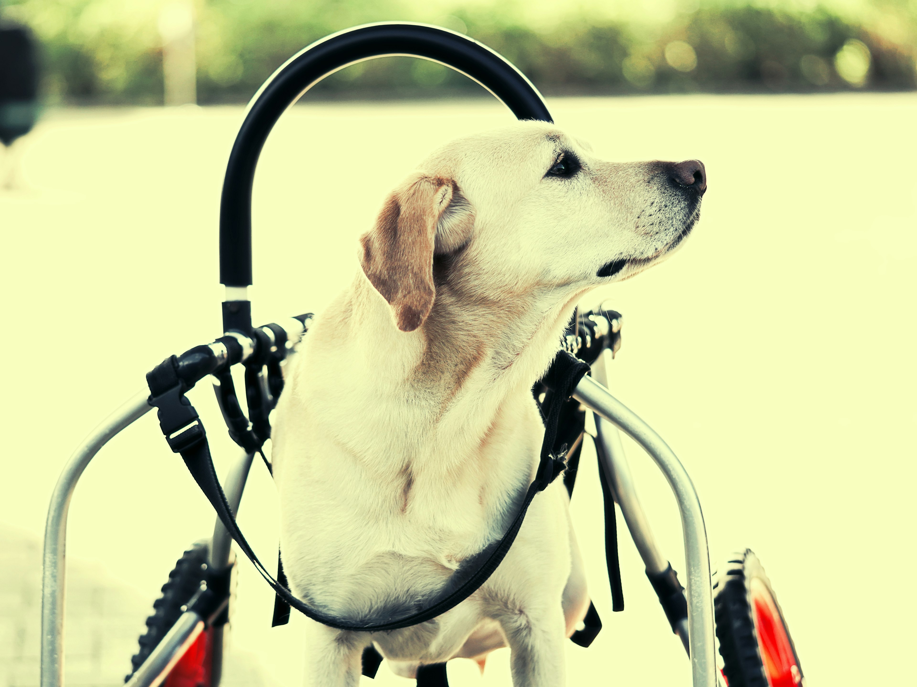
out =
[[[602,376],[602,365],[597,365],[596,376]],[[63,620],[64,585],[66,567],[67,513],[76,483],[95,453],[119,431],[151,409],[148,393],[143,391],[130,398],[121,408],[106,418],[72,454],[54,488],[45,528],[43,572],[41,588],[41,687],[62,687],[63,684]],[[685,472],[675,453],[659,435],[640,420],[633,411],[614,398],[596,379],[586,376],[580,381],[573,398],[596,414],[597,443],[600,458],[613,475],[613,492],[634,536],[635,543],[650,572],[665,570],[668,562],[653,539],[646,515],[636,496],[630,470],[620,439],[613,427],[624,431],[649,453],[666,476],[678,503],[685,547],[685,573],[688,595],[688,641],[691,656],[693,687],[716,687],[716,661],[713,638],[713,590],[710,577],[710,556],[707,534],[703,524],[701,503],[691,477]],[[611,423],[613,427],[605,425]],[[252,462],[252,454],[245,454],[226,478],[226,496],[233,510],[238,505],[245,488]],[[226,565],[229,561],[231,541],[217,520],[211,545],[211,562]],[[193,640],[203,627],[201,618],[189,611],[160,642],[128,683],[129,687],[155,687],[171,668],[175,650]],[[683,638],[683,636],[682,636]]]

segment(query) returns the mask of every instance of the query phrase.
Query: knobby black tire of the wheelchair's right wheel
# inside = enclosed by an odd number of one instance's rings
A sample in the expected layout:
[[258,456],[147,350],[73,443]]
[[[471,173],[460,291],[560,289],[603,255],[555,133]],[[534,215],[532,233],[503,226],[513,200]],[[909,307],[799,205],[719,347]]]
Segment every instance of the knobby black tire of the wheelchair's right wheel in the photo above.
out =
[[761,562],[751,549],[739,551],[729,557],[723,568],[713,576],[713,616],[716,619],[716,638],[723,657],[723,673],[729,687],[769,687],[761,661],[755,620],[748,601],[749,585],[753,579],[764,583],[783,622],[790,639],[790,647],[800,670],[800,685],[805,685],[799,654],[793,645],[790,629],[777,602],[777,594],[764,573]]

